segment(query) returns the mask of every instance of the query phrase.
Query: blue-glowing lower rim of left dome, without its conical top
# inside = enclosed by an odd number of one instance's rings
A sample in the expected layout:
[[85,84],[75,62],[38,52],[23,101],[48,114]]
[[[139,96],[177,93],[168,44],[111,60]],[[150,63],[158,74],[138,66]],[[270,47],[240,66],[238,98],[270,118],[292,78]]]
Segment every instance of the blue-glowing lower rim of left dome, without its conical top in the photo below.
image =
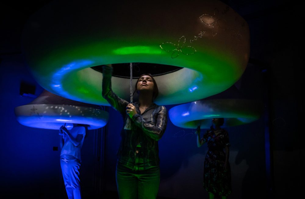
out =
[[105,126],[108,122],[108,112],[92,107],[58,105],[58,104],[28,104],[15,108],[15,115],[20,124],[45,129],[59,129],[66,123],[70,130],[75,124],[88,125],[88,129]]

